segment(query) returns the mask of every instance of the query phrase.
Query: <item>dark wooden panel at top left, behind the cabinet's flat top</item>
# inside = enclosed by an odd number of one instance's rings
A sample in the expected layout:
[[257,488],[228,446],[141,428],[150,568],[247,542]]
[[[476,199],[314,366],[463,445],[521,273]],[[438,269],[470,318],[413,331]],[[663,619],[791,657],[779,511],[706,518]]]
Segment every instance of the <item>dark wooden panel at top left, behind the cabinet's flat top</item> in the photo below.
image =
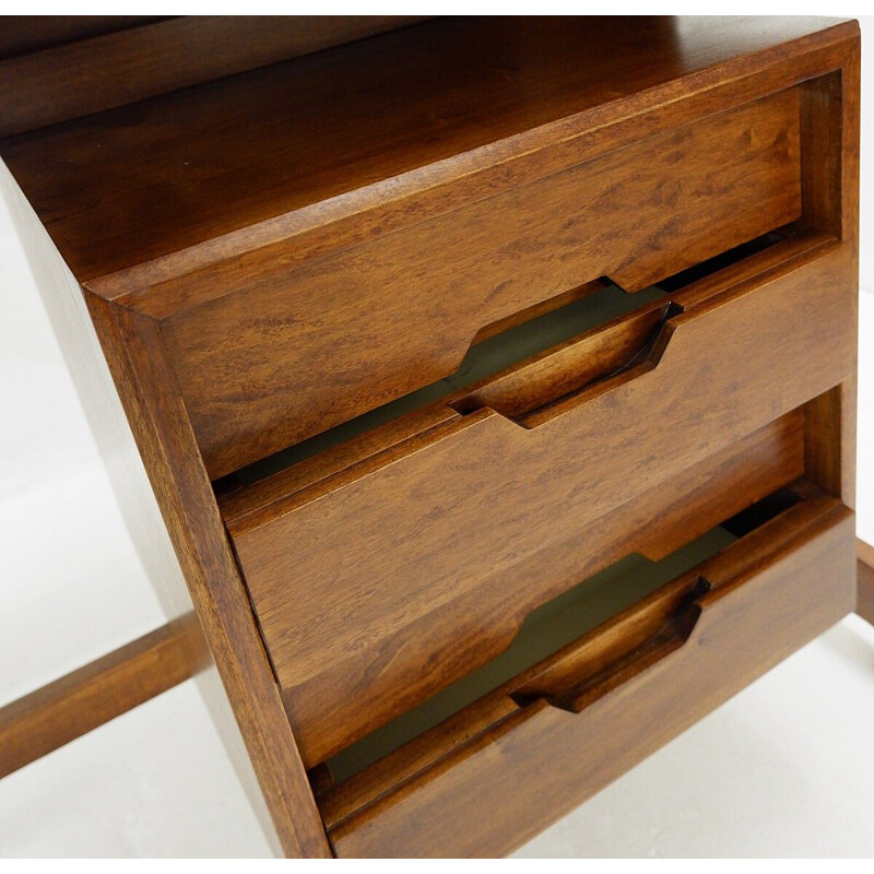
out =
[[[103,113],[422,20],[409,15],[71,17],[20,16],[11,33],[0,36],[0,137]],[[7,27],[3,22],[0,26]]]

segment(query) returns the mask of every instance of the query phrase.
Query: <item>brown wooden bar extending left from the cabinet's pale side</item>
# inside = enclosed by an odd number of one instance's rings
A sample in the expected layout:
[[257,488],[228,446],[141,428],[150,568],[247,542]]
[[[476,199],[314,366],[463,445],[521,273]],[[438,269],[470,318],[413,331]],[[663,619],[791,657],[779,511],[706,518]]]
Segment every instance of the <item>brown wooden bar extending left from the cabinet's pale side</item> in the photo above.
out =
[[193,676],[202,646],[189,615],[0,708],[0,778]]

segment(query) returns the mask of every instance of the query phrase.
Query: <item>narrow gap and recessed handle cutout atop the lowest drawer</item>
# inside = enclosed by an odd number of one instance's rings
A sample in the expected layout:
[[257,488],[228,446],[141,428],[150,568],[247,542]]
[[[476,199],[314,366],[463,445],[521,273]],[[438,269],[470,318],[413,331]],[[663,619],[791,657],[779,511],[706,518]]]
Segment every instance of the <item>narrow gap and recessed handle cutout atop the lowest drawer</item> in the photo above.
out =
[[[329,759],[332,779],[343,783],[414,739],[438,731],[436,727],[445,720],[459,717],[489,695],[511,702],[501,704],[501,716],[515,712],[512,707],[536,707],[544,700],[582,712],[681,650],[711,609],[705,605],[708,593],[724,587],[724,567],[731,567],[731,556],[742,555],[744,564],[751,554],[761,557],[764,551],[772,550],[773,533],[768,527],[786,525],[793,512],[810,512],[813,507],[805,509],[805,499],[815,503],[822,493],[798,481],[658,562],[626,555],[541,603],[500,654]],[[752,536],[742,554],[732,552],[735,532]],[[759,548],[761,553],[756,552]],[[718,565],[713,574],[710,563],[719,562],[719,556],[723,570]],[[740,570],[735,568],[730,579]],[[494,714],[489,710],[489,719]]]

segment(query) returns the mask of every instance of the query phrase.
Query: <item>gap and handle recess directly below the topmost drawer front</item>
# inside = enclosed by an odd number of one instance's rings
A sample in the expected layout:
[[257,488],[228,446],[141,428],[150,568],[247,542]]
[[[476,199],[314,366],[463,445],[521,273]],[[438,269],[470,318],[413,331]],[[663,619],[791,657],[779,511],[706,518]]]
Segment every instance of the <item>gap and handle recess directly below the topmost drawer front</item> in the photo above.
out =
[[354,446],[416,414],[427,417],[429,410],[469,415],[488,406],[534,427],[560,401],[654,367],[670,338],[668,322],[685,306],[674,296],[682,298],[710,277],[730,277],[733,270],[753,274],[767,269],[769,256],[792,257],[815,243],[822,243],[822,235],[794,222],[636,294],[606,276],[588,283],[482,329],[451,376],[216,480],[216,494],[250,486],[336,447]]

